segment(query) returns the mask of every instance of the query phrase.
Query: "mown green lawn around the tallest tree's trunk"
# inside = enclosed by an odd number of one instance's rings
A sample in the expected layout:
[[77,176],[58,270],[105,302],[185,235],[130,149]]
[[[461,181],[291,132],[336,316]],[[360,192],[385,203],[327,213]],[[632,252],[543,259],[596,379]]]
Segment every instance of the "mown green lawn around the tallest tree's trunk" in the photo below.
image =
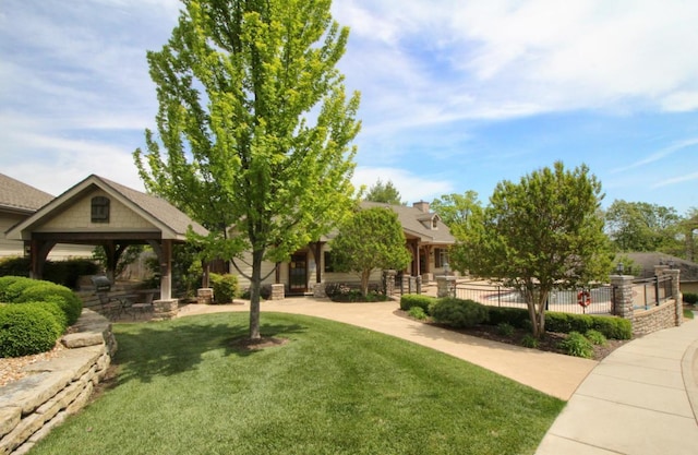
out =
[[290,342],[234,349],[246,313],[116,324],[116,386],[32,455],[531,454],[564,406],[371,331],[278,313],[262,323]]

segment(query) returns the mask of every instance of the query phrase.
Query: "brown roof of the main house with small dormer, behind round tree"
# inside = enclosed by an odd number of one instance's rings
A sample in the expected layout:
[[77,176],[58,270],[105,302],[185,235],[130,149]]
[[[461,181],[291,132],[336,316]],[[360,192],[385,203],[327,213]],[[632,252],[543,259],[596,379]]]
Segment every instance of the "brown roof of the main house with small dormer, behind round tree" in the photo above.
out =
[[[361,202],[362,208],[386,207],[397,214],[397,218],[402,225],[406,234],[419,238],[424,243],[452,244],[456,239],[450,234],[450,229],[441,221],[441,217],[433,212],[424,212],[418,207],[407,205],[393,205],[382,202]],[[436,221],[436,227],[433,223]]]

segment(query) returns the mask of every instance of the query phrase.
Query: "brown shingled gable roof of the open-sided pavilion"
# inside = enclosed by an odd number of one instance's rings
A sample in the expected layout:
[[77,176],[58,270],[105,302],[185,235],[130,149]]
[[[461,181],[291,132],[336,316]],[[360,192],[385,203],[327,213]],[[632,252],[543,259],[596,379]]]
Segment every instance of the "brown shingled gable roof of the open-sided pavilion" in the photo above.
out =
[[72,201],[82,194],[99,188],[111,197],[127,205],[144,219],[156,226],[164,239],[184,240],[189,226],[194,232],[207,235],[206,228],[192,220],[186,214],[171,205],[161,197],[143,193],[124,187],[115,181],[105,179],[96,175],[87,177],[85,180],[70,188],[58,197],[44,205],[38,212],[29,216],[24,221],[8,230],[8,238],[22,239],[22,232],[41,224],[41,220],[56,213],[60,213],[69,206]]

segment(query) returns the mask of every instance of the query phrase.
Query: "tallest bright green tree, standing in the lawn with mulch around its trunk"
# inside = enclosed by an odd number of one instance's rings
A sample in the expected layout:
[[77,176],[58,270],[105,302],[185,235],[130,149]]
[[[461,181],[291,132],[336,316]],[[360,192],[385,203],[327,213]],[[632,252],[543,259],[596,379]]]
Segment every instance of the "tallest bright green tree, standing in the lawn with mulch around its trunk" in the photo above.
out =
[[168,44],[147,53],[158,134],[134,153],[140,175],[213,231],[198,239],[209,255],[251,252],[253,339],[263,261],[287,260],[353,199],[359,95],[336,69],[349,31],[330,3],[183,0]]

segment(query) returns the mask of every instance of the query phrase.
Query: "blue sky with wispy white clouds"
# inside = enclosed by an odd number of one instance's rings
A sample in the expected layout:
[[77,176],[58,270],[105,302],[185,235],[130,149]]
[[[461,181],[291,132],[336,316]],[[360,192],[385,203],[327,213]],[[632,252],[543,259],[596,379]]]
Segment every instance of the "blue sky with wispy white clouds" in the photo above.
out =
[[[0,172],[58,195],[92,173],[143,190],[147,50],[176,0],[0,0]],[[698,2],[335,0],[361,93],[357,187],[409,203],[562,160],[615,200],[698,207]]]

